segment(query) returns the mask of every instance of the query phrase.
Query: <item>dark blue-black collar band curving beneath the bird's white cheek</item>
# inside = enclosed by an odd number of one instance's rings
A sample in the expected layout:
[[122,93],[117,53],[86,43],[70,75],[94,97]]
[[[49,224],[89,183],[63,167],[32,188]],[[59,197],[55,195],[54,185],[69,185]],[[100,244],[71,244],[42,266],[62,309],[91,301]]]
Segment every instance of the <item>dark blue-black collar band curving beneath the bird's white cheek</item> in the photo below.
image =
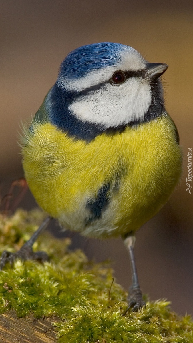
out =
[[110,128],[89,123],[88,121],[82,121],[73,115],[68,107],[76,97],[80,98],[81,96],[85,96],[89,92],[94,91],[96,87],[99,87],[99,85],[90,87],[82,92],[72,92],[64,90],[56,83],[50,91],[49,106],[47,106],[50,121],[59,129],[68,133],[70,137],[91,142],[101,133],[121,133],[128,126],[149,122],[150,120],[161,117],[165,112],[161,83],[158,79],[151,84],[151,104],[142,120],[134,119],[132,122],[128,122],[125,125]]

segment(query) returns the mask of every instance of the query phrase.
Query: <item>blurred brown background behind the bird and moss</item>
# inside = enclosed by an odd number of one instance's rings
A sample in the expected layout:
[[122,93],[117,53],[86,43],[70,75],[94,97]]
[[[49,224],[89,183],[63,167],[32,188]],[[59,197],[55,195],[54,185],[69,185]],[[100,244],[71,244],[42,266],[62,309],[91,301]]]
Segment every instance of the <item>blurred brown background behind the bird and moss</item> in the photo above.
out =
[[[193,314],[193,195],[185,190],[186,155],[193,149],[192,0],[6,0],[0,1],[0,18],[1,194],[23,176],[16,143],[20,122],[35,114],[69,51],[119,42],[150,62],[169,64],[166,107],[179,130],[184,175],[167,205],[137,233],[135,251],[143,292],[171,300],[180,314]],[[28,192],[22,206],[35,205]],[[82,237],[72,239],[72,248],[85,247]],[[117,281],[128,288],[129,260],[121,240],[90,240],[86,254],[97,261],[110,257]]]

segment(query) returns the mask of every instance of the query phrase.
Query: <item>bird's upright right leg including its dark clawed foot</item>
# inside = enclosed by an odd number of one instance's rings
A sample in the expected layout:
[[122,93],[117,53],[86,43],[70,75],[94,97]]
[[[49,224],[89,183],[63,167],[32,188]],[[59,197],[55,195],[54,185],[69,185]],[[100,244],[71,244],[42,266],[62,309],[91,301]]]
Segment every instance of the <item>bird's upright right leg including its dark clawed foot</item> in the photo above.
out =
[[135,244],[135,236],[130,235],[124,238],[124,244],[129,252],[129,259],[130,259],[130,266],[132,272],[132,284],[129,287],[129,295],[128,295],[128,307],[125,313],[128,311],[129,308],[132,308],[132,311],[137,311],[138,309],[145,306],[145,301],[142,298],[142,292],[139,286],[138,275],[137,275],[137,267],[135,263],[135,256],[134,256],[134,244]]

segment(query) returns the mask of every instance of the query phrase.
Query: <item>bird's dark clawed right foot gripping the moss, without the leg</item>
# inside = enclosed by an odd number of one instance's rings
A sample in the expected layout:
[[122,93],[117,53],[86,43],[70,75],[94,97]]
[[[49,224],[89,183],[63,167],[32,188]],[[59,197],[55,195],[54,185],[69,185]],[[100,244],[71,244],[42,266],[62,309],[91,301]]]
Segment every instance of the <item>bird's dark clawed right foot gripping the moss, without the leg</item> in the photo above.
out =
[[140,287],[131,286],[129,288],[128,307],[127,307],[127,310],[125,311],[125,314],[130,308],[132,308],[133,312],[137,312],[139,309],[141,309],[145,305],[146,303],[143,300]]

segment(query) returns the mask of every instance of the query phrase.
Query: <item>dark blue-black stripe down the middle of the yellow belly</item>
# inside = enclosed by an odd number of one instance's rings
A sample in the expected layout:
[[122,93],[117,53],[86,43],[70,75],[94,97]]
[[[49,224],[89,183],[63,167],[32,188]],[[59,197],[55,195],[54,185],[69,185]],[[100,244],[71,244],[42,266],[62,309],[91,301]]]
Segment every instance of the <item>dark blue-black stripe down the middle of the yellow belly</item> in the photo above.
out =
[[107,192],[110,189],[110,184],[104,184],[98,191],[95,199],[89,199],[86,204],[86,208],[90,210],[91,216],[88,222],[92,222],[95,219],[100,218],[101,213],[105,210],[109,204],[109,197]]

